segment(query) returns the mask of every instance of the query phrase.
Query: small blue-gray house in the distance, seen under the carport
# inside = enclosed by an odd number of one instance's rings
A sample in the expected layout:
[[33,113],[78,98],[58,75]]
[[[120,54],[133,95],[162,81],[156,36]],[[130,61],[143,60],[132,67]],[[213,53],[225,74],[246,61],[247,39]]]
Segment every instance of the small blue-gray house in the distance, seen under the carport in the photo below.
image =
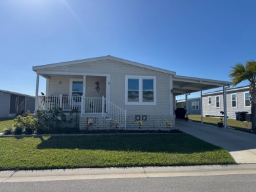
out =
[[201,98],[188,99],[188,106],[186,106],[186,100],[177,100],[176,109],[177,108],[187,109],[188,115],[201,115]]

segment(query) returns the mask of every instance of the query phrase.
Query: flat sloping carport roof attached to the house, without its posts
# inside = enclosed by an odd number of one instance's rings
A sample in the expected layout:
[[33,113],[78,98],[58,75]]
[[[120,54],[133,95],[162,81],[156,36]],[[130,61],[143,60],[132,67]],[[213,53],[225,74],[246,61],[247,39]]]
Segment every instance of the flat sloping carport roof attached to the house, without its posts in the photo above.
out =
[[175,96],[230,85],[232,82],[229,81],[173,75],[173,95]]

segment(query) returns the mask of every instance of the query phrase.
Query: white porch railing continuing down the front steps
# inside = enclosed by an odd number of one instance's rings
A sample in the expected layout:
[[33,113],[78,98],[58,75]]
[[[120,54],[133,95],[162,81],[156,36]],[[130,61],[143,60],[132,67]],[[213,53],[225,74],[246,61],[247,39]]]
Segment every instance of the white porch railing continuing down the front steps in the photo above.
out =
[[81,115],[106,115],[126,128],[126,110],[121,109],[106,98],[83,98],[82,96],[38,96],[37,110],[62,108],[62,111],[77,109]]

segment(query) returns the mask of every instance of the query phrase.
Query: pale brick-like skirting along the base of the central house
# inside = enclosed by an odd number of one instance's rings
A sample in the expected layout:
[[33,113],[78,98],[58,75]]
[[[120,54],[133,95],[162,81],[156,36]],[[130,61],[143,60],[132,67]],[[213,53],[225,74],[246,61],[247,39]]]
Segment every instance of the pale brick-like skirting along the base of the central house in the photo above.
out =
[[[88,119],[93,118],[93,123],[88,126]],[[127,115],[126,128],[138,128],[138,121],[142,121],[141,128],[167,128],[165,121],[169,121],[172,126],[170,128],[175,128],[175,115]],[[79,129],[114,129],[114,121],[106,119],[104,116],[96,117],[79,117]],[[121,129],[122,127],[119,127]]]

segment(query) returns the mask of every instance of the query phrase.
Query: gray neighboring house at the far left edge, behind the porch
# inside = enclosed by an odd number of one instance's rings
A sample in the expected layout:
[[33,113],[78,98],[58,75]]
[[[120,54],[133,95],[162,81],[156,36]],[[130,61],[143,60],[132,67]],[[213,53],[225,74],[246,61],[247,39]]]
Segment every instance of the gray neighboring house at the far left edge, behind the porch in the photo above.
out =
[[34,111],[35,96],[0,90],[0,117],[14,117],[26,110]]

